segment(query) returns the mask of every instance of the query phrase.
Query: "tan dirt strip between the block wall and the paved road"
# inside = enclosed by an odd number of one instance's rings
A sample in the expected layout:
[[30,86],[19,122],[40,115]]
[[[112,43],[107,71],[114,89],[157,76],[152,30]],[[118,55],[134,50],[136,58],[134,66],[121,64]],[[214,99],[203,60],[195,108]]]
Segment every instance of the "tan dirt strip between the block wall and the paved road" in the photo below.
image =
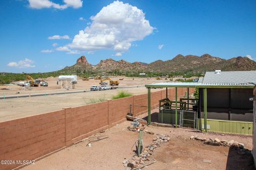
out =
[[[89,91],[76,94],[49,95],[26,98],[2,99],[0,103],[0,122],[16,118],[58,111],[65,107],[77,107],[89,104],[92,99],[111,99],[118,91],[130,92],[132,95],[146,94],[145,87],[124,88],[104,91]],[[152,89],[158,91],[162,89]]]

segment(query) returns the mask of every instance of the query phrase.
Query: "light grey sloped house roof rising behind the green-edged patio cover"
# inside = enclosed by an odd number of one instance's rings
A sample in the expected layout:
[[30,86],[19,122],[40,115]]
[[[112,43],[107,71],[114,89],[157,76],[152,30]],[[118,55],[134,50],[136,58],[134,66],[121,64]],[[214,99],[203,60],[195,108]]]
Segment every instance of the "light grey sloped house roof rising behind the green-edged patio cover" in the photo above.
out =
[[250,85],[256,83],[256,71],[220,71],[206,72],[202,83],[228,85]]

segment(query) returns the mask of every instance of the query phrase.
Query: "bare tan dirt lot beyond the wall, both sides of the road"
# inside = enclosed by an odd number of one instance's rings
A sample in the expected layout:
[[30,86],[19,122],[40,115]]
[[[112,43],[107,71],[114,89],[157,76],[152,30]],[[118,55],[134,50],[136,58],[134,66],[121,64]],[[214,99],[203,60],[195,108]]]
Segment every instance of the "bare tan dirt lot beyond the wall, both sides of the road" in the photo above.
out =
[[[156,80],[155,78],[127,78],[127,77],[113,77],[112,80],[119,80],[119,89],[105,90],[105,91],[92,91],[82,92],[76,94],[63,94],[63,95],[49,95],[38,97],[26,97],[26,98],[11,98],[1,100],[0,103],[0,122],[13,120],[15,118],[21,118],[36,114],[42,114],[46,112],[58,111],[65,107],[83,106],[92,102],[93,99],[111,99],[116,95],[118,91],[124,90],[130,92],[132,95],[146,94],[147,89],[145,87],[137,87],[139,85],[165,82],[166,80]],[[31,87],[31,90],[24,90],[23,87],[18,85],[1,86],[0,88],[8,88],[10,90],[0,90],[0,96],[11,95],[25,95],[25,94],[44,94],[48,92],[60,92],[67,91],[61,89],[61,86],[57,84],[58,77],[47,78],[49,87]],[[92,85],[98,85],[100,80],[90,79],[89,81],[83,81],[78,78],[76,89],[69,89],[68,91],[86,90],[90,89]],[[157,91],[152,90],[152,91]],[[17,94],[19,92],[19,94]]]

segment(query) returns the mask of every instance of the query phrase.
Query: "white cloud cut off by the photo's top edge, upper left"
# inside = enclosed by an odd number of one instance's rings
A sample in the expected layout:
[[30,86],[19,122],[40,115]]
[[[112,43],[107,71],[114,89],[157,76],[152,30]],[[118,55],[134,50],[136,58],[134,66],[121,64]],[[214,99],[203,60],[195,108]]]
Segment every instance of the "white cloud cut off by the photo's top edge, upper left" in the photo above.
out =
[[35,9],[53,7],[59,10],[63,10],[63,9],[66,9],[67,7],[79,8],[83,6],[83,1],[81,0],[64,0],[63,5],[54,3],[50,0],[28,0],[28,2],[29,2],[29,7],[35,8]]

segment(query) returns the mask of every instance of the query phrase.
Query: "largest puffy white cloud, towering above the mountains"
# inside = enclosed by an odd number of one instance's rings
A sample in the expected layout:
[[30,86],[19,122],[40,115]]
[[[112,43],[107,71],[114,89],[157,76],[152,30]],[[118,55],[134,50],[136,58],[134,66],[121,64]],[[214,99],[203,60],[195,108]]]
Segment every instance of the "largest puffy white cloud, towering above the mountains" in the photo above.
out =
[[142,10],[119,1],[103,7],[90,19],[90,26],[79,31],[68,47],[80,51],[114,49],[121,53],[129,50],[133,41],[142,40],[154,30]]

